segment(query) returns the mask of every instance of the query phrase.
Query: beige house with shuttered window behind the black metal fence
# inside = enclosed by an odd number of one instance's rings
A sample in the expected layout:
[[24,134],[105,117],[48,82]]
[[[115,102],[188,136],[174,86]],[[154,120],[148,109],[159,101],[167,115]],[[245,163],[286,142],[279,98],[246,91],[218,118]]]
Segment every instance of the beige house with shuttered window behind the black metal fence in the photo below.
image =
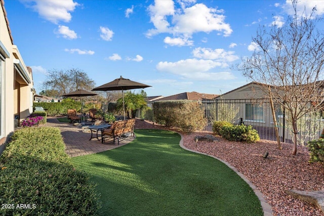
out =
[[[244,123],[252,125],[259,134],[264,136],[261,139],[274,137],[273,116],[269,104],[269,99],[261,90],[263,83],[250,82],[242,87],[216,97],[214,100],[204,100],[206,116],[210,122],[214,120],[229,121],[234,124]],[[273,89],[274,92],[274,89]],[[275,116],[279,128],[279,135],[284,139],[292,139],[292,126],[289,113],[279,104],[274,104]],[[300,143],[305,143],[312,139],[318,139],[320,131],[324,126],[324,121],[320,115],[305,115],[297,122],[300,133],[298,139]],[[271,140],[271,139],[270,139]],[[275,139],[272,139],[275,140]]]

